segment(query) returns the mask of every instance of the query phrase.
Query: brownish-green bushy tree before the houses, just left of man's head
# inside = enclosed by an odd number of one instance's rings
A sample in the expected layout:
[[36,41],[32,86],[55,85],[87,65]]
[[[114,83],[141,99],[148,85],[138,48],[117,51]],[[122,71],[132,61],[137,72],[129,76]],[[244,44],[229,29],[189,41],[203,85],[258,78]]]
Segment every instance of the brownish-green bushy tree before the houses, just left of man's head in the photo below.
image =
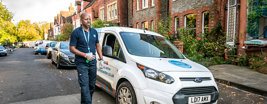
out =
[[57,35],[55,38],[58,41],[66,41],[70,38],[71,32],[73,31],[73,25],[71,23],[65,23],[62,28],[62,33]]

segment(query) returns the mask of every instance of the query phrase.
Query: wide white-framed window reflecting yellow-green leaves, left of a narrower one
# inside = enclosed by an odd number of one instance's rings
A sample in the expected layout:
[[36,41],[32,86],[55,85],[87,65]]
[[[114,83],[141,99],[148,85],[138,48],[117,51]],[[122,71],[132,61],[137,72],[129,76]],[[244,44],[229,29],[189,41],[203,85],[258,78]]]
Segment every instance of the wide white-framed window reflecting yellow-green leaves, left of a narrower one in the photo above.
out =
[[185,15],[185,27],[187,27],[187,29],[193,29],[194,36],[196,36],[196,14]]

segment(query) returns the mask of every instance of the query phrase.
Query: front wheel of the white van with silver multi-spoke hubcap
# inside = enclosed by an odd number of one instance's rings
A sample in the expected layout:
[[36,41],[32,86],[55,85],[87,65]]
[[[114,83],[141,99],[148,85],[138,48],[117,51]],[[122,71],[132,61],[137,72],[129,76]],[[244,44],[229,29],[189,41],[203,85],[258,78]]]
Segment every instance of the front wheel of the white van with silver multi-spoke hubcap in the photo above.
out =
[[134,88],[129,81],[120,83],[116,92],[117,104],[137,104]]

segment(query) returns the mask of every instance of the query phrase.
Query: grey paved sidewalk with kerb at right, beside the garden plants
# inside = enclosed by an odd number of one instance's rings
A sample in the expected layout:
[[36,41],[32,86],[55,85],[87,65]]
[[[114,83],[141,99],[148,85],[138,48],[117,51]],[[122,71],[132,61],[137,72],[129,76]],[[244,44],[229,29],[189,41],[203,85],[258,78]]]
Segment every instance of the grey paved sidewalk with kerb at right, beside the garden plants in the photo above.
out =
[[241,90],[267,96],[267,75],[236,65],[214,65],[208,67],[219,83]]

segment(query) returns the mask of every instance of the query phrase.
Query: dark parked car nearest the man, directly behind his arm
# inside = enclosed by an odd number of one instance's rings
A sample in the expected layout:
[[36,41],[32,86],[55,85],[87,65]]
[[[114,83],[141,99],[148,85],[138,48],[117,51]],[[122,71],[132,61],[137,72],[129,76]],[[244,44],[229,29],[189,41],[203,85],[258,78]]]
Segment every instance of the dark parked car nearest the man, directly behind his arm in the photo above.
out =
[[57,63],[57,69],[62,66],[76,66],[74,59],[75,55],[70,52],[70,42],[58,42],[52,49],[51,63]]

